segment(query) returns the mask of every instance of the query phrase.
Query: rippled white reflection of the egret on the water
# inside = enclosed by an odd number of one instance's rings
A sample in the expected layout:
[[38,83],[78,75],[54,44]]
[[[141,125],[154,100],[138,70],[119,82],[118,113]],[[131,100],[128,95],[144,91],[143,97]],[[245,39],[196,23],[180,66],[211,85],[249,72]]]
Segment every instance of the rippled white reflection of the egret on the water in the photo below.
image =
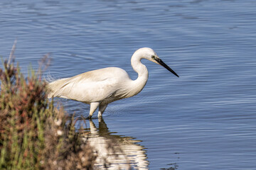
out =
[[138,144],[142,141],[113,135],[116,132],[110,132],[102,118],[99,118],[99,128],[92,120],[86,121],[90,124],[90,128],[85,129],[90,132],[86,140],[97,151],[96,169],[106,169],[106,166],[107,169],[148,169],[145,148]]

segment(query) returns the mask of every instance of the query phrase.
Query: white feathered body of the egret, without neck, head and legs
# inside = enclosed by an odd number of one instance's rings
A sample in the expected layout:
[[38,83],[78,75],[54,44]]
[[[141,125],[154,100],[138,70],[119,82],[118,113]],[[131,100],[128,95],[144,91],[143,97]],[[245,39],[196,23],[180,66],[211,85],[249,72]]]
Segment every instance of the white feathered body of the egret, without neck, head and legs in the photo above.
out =
[[52,89],[49,96],[68,98],[87,104],[97,101],[107,104],[138,94],[145,84],[146,81],[140,89],[134,89],[133,81],[124,69],[107,67],[78,74],[75,77],[59,79],[48,86]]

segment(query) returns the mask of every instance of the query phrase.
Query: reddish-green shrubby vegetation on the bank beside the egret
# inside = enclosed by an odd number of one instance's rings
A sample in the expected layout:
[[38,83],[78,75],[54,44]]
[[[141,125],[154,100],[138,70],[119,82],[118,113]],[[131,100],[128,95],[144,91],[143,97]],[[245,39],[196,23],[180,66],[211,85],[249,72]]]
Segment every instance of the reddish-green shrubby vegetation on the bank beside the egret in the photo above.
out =
[[14,61],[0,69],[0,169],[92,169],[97,154],[74,118],[46,97],[41,69],[27,78]]

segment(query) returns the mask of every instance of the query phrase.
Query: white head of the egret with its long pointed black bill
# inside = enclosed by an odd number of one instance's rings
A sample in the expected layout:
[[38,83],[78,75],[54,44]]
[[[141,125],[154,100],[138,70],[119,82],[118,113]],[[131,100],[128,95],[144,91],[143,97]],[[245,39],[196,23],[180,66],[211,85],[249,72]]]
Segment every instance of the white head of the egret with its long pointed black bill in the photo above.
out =
[[142,58],[149,60],[151,62],[154,62],[156,64],[161,65],[162,67],[168,69],[172,74],[176,75],[176,77],[178,77],[178,74],[176,74],[176,72],[174,72],[174,70],[172,70],[168,65],[166,65],[159,57],[158,55],[156,55],[156,52],[154,52],[154,50],[152,50],[149,47],[144,47],[144,48],[140,48],[139,50],[137,50],[135,53],[139,53],[138,55],[141,55]]

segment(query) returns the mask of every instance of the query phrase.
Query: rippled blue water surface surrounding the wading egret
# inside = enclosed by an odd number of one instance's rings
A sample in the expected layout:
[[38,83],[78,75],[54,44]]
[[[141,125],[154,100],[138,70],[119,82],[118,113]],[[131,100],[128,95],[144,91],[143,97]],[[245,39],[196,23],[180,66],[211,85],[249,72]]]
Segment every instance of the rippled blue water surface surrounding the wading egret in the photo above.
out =
[[255,9],[252,0],[1,0],[0,55],[17,38],[23,72],[50,53],[55,78],[114,66],[136,79],[130,57],[151,47],[180,78],[144,61],[149,81],[107,107],[108,134],[134,139],[148,169],[256,169]]

